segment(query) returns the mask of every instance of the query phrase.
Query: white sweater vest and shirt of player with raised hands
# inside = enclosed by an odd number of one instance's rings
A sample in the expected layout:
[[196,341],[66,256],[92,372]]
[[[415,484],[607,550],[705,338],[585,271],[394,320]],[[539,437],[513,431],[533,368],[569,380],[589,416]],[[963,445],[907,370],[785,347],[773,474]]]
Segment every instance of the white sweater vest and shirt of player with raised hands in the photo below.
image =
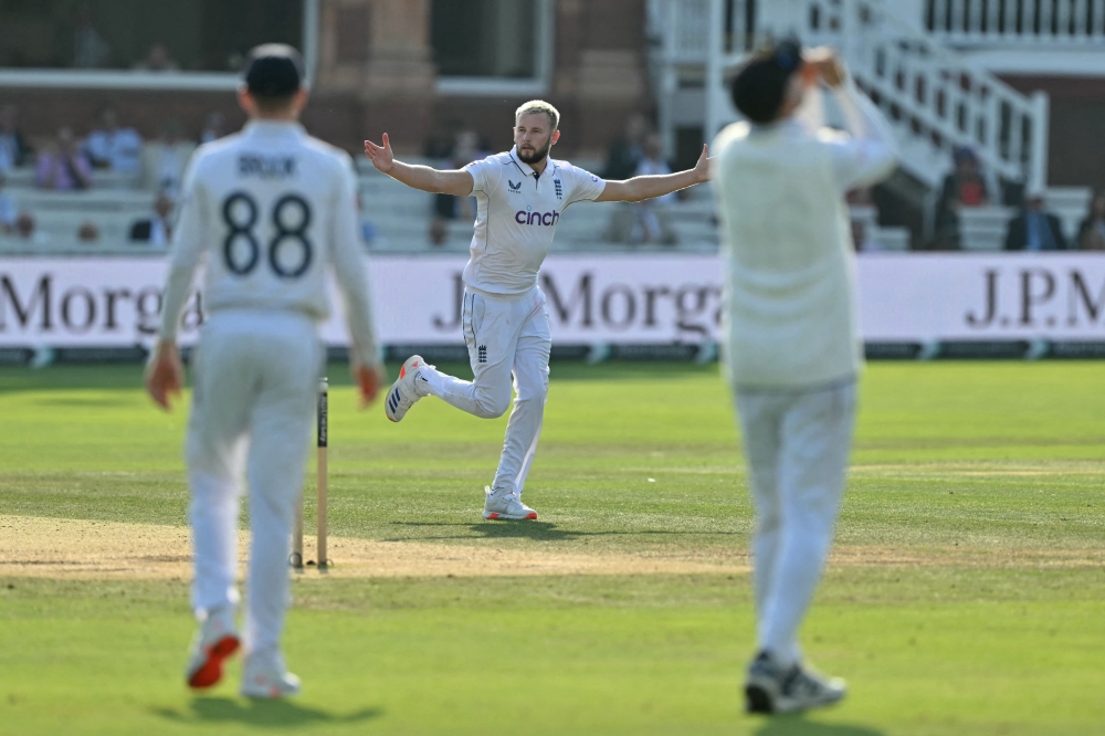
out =
[[823,386],[862,366],[844,193],[893,171],[893,132],[851,83],[851,136],[794,119],[737,123],[714,143],[727,259],[727,361],[739,388]]

